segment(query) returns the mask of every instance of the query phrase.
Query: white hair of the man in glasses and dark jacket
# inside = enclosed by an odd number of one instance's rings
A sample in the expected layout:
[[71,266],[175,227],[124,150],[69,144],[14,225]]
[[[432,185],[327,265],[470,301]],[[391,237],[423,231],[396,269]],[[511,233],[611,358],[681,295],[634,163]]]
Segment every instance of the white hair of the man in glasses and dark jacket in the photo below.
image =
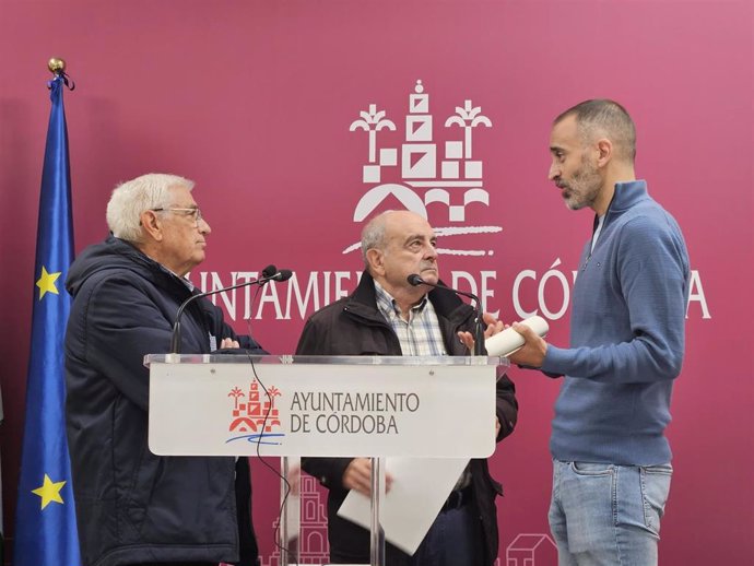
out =
[[173,187],[192,190],[193,181],[177,175],[150,173],[118,185],[107,203],[107,226],[113,235],[127,241],[140,241],[141,213],[168,208]]

